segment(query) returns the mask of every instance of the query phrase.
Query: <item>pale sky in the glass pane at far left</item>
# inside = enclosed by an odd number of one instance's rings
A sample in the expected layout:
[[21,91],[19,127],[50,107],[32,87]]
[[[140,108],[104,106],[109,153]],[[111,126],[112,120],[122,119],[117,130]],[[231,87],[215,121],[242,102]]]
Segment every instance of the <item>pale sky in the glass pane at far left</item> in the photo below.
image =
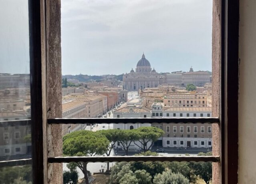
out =
[[29,74],[28,0],[0,0],[0,73]]

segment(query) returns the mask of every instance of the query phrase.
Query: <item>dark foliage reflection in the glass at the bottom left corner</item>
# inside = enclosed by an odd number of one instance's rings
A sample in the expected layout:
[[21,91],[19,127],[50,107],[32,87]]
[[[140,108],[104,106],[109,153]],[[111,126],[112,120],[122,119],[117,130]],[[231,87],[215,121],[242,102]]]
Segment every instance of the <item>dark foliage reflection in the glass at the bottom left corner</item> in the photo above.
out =
[[13,166],[0,168],[2,184],[32,184],[32,166]]

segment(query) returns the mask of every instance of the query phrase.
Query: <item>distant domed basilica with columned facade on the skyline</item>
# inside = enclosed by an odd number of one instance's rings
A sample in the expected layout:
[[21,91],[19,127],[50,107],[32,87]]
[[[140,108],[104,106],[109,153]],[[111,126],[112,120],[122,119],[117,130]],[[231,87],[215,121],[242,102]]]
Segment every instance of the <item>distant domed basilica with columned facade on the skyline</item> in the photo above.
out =
[[143,53],[141,60],[138,61],[135,71],[123,75],[123,88],[129,91],[138,91],[144,88],[156,88],[161,84],[163,78],[155,69],[151,69],[149,61]]

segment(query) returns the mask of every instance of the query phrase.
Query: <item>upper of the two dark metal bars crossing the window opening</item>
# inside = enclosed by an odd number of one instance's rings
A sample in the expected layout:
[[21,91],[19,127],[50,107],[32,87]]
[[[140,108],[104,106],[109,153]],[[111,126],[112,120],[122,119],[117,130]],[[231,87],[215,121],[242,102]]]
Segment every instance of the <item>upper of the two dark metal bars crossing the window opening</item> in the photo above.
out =
[[220,123],[219,118],[56,118],[48,124]]

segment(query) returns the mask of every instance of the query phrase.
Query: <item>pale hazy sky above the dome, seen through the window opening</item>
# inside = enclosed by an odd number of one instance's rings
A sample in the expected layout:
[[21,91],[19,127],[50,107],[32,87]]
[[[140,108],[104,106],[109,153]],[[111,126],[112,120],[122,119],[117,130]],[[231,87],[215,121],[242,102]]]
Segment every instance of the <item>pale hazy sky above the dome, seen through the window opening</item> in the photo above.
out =
[[62,74],[212,70],[212,0],[62,0]]

